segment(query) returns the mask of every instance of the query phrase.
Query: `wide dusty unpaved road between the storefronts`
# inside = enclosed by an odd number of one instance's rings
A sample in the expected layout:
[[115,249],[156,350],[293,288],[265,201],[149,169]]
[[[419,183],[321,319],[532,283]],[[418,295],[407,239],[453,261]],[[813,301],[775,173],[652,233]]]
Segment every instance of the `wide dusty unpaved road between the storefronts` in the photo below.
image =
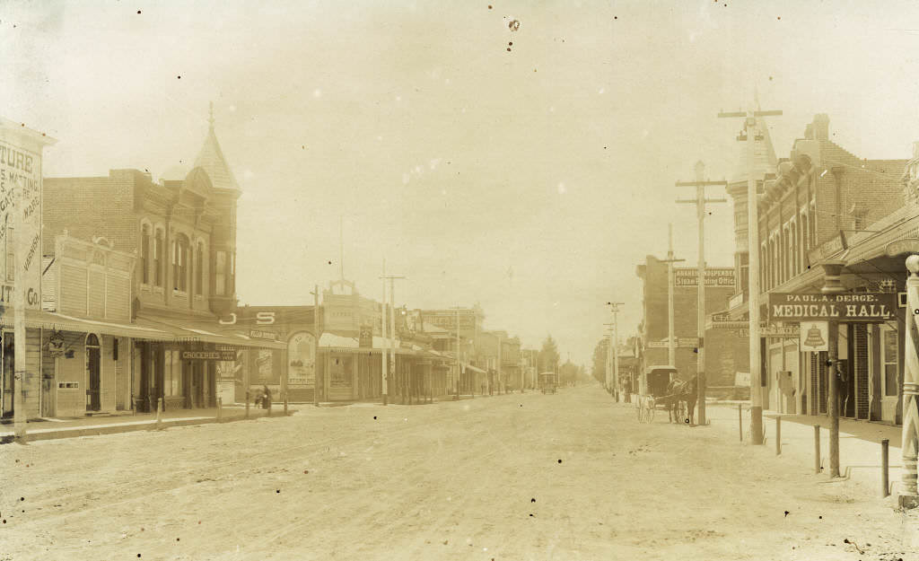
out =
[[0,559],[919,558],[879,498],[662,417],[594,385],[6,445]]

